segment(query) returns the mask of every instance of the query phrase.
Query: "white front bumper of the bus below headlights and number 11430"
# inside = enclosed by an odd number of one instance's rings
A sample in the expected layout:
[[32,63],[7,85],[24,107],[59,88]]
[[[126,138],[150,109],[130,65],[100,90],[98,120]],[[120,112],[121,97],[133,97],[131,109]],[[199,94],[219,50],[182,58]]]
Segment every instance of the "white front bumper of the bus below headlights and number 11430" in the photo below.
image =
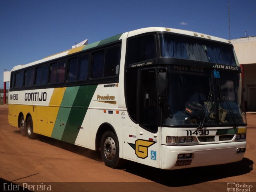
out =
[[[209,165],[226,164],[242,160],[246,141],[193,146],[162,145],[162,169],[182,169]],[[178,154],[192,154],[191,158],[179,158]]]

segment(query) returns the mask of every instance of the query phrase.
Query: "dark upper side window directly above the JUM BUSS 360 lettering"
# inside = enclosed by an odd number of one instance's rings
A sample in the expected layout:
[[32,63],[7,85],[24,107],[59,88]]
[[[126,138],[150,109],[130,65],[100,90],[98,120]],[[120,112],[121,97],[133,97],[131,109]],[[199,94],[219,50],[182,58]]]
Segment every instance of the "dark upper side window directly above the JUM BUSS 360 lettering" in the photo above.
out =
[[155,36],[147,35],[128,41],[127,64],[137,63],[156,57]]

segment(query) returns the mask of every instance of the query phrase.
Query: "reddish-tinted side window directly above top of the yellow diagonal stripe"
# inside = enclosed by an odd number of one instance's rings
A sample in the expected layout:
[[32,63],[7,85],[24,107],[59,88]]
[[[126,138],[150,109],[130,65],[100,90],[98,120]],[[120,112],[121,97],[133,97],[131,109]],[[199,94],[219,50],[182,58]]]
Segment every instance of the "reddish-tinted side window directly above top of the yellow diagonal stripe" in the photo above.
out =
[[59,61],[50,65],[50,83],[63,83],[65,79],[65,61]]

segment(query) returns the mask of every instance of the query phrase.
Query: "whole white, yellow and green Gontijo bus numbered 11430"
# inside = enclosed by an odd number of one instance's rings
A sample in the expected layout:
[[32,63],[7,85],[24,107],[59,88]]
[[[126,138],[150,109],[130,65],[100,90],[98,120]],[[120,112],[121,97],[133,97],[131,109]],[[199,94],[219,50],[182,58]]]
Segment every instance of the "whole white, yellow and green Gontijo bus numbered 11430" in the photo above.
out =
[[246,150],[241,68],[230,41],[142,28],[12,68],[9,123],[100,150],[112,168],[225,164]]

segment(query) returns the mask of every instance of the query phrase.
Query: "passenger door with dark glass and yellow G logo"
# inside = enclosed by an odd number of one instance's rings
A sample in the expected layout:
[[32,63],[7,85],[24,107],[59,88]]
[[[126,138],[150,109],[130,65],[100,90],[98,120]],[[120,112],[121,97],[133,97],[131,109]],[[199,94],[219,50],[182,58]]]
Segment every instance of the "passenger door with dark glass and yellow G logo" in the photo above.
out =
[[139,125],[135,154],[139,163],[159,168],[160,129],[156,77],[156,68],[140,70],[137,113]]

